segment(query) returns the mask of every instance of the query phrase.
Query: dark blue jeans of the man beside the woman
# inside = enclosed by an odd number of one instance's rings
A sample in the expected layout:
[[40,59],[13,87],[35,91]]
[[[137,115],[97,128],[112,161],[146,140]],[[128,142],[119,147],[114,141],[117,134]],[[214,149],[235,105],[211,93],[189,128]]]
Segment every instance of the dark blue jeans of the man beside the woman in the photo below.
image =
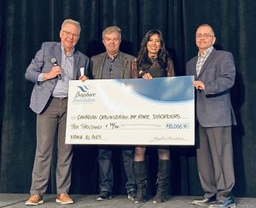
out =
[[[98,163],[100,168],[100,188],[102,191],[112,192],[113,188],[113,165],[112,153],[113,147],[101,147],[98,151]],[[122,148],[124,159],[125,174],[127,182],[125,188],[127,193],[136,190],[135,175],[133,170],[134,147]]]

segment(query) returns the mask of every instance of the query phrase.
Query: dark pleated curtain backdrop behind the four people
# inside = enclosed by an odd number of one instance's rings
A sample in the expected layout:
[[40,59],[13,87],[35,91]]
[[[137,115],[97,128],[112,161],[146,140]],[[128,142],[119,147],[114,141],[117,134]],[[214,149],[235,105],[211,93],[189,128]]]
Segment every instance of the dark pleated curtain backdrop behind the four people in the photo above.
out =
[[[217,49],[230,51],[236,62],[232,103],[238,125],[233,128],[236,196],[256,197],[254,109],[256,67],[254,27],[256,2],[250,0],[2,0],[0,1],[0,193],[29,193],[36,147],[36,115],[29,108],[32,84],[26,67],[44,41],[59,41],[64,19],[82,26],[78,48],[91,56],[102,52],[102,30],[122,29],[121,49],[137,55],[149,29],[160,29],[178,76],[197,54],[195,28],[213,26]],[[195,147],[170,147],[171,194],[201,195]],[[54,155],[56,150],[54,151]],[[98,193],[97,147],[74,147],[71,194]],[[148,148],[149,189],[155,192],[157,154]],[[125,172],[119,147],[113,157],[113,194],[125,194]],[[55,157],[47,193],[55,194]]]

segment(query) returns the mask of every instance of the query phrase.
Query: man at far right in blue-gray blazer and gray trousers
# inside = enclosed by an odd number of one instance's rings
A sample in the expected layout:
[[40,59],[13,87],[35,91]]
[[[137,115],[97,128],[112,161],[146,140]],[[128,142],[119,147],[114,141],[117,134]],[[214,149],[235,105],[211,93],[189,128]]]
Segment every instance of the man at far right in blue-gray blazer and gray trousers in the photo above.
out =
[[208,207],[236,207],[231,193],[235,185],[231,125],[236,124],[230,101],[235,82],[233,55],[213,49],[216,38],[212,26],[197,28],[195,42],[199,53],[187,63],[187,75],[194,75],[199,147],[196,150],[202,199],[192,204]]

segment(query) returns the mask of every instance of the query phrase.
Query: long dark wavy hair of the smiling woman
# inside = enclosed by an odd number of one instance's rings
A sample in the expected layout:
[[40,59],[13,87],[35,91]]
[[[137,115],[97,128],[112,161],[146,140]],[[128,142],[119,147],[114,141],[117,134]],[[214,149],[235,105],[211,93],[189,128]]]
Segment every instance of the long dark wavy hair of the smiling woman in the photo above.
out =
[[147,43],[151,36],[153,36],[154,34],[157,34],[160,38],[160,50],[158,51],[157,59],[159,61],[160,66],[166,67],[168,52],[166,50],[166,45],[164,42],[162,32],[160,32],[160,30],[150,30],[146,33],[141,43],[141,49],[139,50],[137,55],[137,66],[141,66],[143,63],[152,63],[150,57],[148,57]]

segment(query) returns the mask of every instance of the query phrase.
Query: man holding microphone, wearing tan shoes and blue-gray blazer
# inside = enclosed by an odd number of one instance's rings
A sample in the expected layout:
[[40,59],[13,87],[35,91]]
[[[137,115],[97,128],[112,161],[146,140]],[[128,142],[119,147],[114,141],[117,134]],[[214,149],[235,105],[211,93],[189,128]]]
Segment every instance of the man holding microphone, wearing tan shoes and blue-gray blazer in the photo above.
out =
[[[25,78],[34,83],[30,107],[37,113],[37,148],[32,170],[31,197],[26,205],[44,202],[43,194],[49,181],[52,150],[57,135],[56,202],[72,204],[68,196],[71,182],[72,145],[65,144],[67,121],[67,92],[69,80],[87,77],[89,58],[74,49],[79,41],[81,27],[75,20],[64,20],[61,43],[43,43],[26,69]],[[57,132],[56,132],[57,130]]]

